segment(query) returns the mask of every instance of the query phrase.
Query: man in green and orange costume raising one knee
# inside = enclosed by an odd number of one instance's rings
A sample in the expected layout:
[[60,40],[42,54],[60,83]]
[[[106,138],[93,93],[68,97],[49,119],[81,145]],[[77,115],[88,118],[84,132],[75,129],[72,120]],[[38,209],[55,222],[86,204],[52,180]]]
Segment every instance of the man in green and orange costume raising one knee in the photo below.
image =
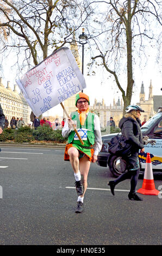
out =
[[[76,95],[76,107],[78,111],[72,112],[66,120],[62,135],[68,136],[68,144],[65,148],[65,161],[70,161],[76,180],[78,194],[76,213],[83,211],[83,199],[87,184],[91,162],[96,162],[97,155],[102,147],[101,129],[98,115],[89,111],[89,96],[85,93]],[[77,131],[84,145],[79,141],[72,125],[77,123]],[[81,175],[83,175],[83,186]],[[84,189],[83,189],[84,187]]]

